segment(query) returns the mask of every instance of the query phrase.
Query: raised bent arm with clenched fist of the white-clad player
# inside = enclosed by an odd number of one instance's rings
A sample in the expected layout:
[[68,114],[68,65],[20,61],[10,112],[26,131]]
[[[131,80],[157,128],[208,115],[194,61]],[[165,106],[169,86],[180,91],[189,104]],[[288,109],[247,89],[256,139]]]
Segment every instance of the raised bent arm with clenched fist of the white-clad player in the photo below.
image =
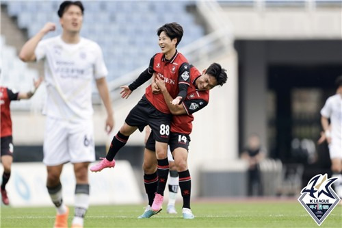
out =
[[36,50],[38,42],[42,40],[43,36],[45,36],[49,31],[54,31],[55,29],[55,23],[46,23],[34,37],[25,42],[25,45],[21,48],[21,52],[19,53],[19,58],[23,62],[32,62],[36,60],[34,51]]

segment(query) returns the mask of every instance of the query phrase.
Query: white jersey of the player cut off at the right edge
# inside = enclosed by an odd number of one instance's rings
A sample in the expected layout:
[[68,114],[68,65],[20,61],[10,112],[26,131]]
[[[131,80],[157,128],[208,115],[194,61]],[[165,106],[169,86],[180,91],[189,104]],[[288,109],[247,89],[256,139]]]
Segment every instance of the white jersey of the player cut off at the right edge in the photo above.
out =
[[335,94],[326,100],[326,104],[321,109],[321,115],[330,118],[332,143],[337,142],[342,152],[342,97],[340,94]]

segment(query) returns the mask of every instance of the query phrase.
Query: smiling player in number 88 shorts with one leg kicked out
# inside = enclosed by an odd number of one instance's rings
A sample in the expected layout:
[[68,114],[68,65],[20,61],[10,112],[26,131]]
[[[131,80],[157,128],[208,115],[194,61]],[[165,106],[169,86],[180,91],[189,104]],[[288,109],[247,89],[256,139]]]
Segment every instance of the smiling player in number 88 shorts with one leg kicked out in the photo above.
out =
[[[128,98],[129,95],[150,79],[155,73],[158,77],[165,81],[165,88],[176,97],[172,102],[176,105],[185,99],[187,88],[189,86],[189,63],[187,59],[176,50],[177,45],[183,37],[183,28],[178,23],[168,23],[161,26],[157,30],[159,37],[159,47],[161,53],[157,53],[151,58],[148,68],[140,74],[129,86],[121,86],[122,98]],[[101,171],[103,168],[114,167],[114,157],[118,151],[124,147],[129,136],[137,129],[142,131],[146,125],[149,125],[155,136],[155,149],[157,155],[159,176],[158,189],[155,194],[156,205],[155,213],[161,210],[163,202],[163,191],[166,187],[166,179],[168,179],[168,141],[170,135],[170,123],[172,115],[168,108],[168,104],[163,99],[163,94],[153,94],[152,87],[148,86],[142,99],[133,107],[127,116],[124,125],[118,131],[111,141],[108,153],[101,162],[92,166],[92,172]]]

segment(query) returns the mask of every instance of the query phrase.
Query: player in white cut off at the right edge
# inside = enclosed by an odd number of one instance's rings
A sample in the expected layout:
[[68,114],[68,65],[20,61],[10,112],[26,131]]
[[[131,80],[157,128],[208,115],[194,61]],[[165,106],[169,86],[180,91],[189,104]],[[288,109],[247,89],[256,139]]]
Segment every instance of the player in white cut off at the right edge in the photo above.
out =
[[[337,94],[329,97],[321,109],[321,125],[328,142],[334,188],[342,197],[342,75],[337,78]],[[330,119],[330,124],[329,124]],[[319,142],[322,142],[322,138]]]

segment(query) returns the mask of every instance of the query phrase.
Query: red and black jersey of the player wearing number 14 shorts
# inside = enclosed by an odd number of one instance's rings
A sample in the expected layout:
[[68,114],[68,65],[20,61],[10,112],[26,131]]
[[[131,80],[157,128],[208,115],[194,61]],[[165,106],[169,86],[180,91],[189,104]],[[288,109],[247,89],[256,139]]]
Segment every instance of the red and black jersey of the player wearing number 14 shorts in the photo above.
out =
[[200,75],[198,69],[192,66],[190,69],[191,84],[187,88],[187,98],[182,103],[187,114],[174,115],[172,117],[171,131],[174,133],[190,134],[192,132],[192,121],[194,121],[192,114],[201,110],[209,103],[209,90],[196,90],[194,84]]

